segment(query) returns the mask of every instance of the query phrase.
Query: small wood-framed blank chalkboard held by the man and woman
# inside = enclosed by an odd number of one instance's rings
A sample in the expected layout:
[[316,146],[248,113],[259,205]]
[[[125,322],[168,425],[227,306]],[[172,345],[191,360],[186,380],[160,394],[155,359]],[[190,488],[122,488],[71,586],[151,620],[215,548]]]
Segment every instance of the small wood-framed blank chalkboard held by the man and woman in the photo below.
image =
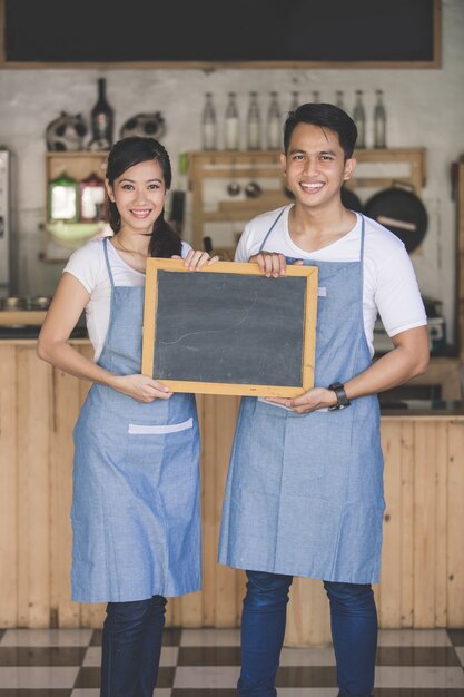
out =
[[296,396],[314,385],[316,266],[267,278],[257,264],[189,272],[147,259],[142,366],[172,392]]

